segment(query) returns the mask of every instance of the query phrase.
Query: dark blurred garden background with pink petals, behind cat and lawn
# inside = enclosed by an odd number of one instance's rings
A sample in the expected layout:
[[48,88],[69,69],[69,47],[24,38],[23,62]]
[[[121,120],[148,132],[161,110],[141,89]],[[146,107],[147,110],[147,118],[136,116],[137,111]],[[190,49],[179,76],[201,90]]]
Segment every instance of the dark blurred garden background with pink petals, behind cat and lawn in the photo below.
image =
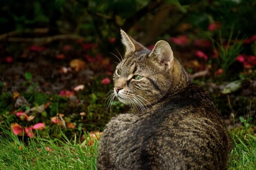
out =
[[[167,41],[227,126],[253,124],[255,11],[255,0],[1,0],[0,119],[50,126],[63,113],[62,124],[90,131],[127,111],[118,101],[106,111],[123,29],[149,49]],[[47,103],[27,113],[33,122],[13,114]]]

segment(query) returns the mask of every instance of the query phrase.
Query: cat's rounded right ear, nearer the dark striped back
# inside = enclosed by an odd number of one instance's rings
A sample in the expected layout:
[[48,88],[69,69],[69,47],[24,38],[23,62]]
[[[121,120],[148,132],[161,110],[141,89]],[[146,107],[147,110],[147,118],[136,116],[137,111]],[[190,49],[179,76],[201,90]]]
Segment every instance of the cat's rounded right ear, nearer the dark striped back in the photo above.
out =
[[168,42],[161,40],[155,44],[154,49],[149,54],[153,60],[157,60],[160,64],[164,64],[168,69],[173,68],[173,51]]

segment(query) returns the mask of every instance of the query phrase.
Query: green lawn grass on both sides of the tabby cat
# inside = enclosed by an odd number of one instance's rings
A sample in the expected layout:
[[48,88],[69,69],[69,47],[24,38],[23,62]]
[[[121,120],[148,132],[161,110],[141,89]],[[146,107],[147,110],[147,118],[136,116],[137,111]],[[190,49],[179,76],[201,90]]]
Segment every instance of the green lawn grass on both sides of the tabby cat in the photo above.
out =
[[[0,136],[1,170],[95,170],[97,160],[97,142],[88,147],[87,142],[78,144],[79,137],[67,139],[61,132],[61,139],[42,139],[38,137],[24,139],[3,130]],[[228,170],[256,169],[256,136],[250,135],[254,129],[239,127],[230,131],[234,141]],[[85,137],[86,138],[86,137]],[[49,147],[52,151],[47,151]]]

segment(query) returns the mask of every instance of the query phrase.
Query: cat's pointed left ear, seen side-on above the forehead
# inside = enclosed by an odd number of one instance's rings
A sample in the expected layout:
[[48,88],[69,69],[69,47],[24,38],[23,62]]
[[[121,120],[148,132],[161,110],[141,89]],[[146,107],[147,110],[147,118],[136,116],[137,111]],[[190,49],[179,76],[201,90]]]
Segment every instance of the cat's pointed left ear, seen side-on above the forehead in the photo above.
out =
[[124,46],[126,47],[126,52],[125,52],[126,55],[132,51],[146,50],[146,47],[139,44],[139,42],[133,40],[123,30],[120,30],[120,31],[121,31],[121,36],[122,36],[121,41],[124,44]]

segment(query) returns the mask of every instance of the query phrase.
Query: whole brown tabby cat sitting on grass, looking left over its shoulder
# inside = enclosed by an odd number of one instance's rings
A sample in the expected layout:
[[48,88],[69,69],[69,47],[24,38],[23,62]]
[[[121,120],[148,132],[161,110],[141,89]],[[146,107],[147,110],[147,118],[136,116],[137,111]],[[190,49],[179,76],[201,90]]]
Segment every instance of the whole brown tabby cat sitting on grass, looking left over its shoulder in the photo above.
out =
[[132,111],[113,117],[99,140],[98,170],[224,170],[232,148],[208,93],[166,41],[152,51],[121,30],[125,57],[113,94]]

